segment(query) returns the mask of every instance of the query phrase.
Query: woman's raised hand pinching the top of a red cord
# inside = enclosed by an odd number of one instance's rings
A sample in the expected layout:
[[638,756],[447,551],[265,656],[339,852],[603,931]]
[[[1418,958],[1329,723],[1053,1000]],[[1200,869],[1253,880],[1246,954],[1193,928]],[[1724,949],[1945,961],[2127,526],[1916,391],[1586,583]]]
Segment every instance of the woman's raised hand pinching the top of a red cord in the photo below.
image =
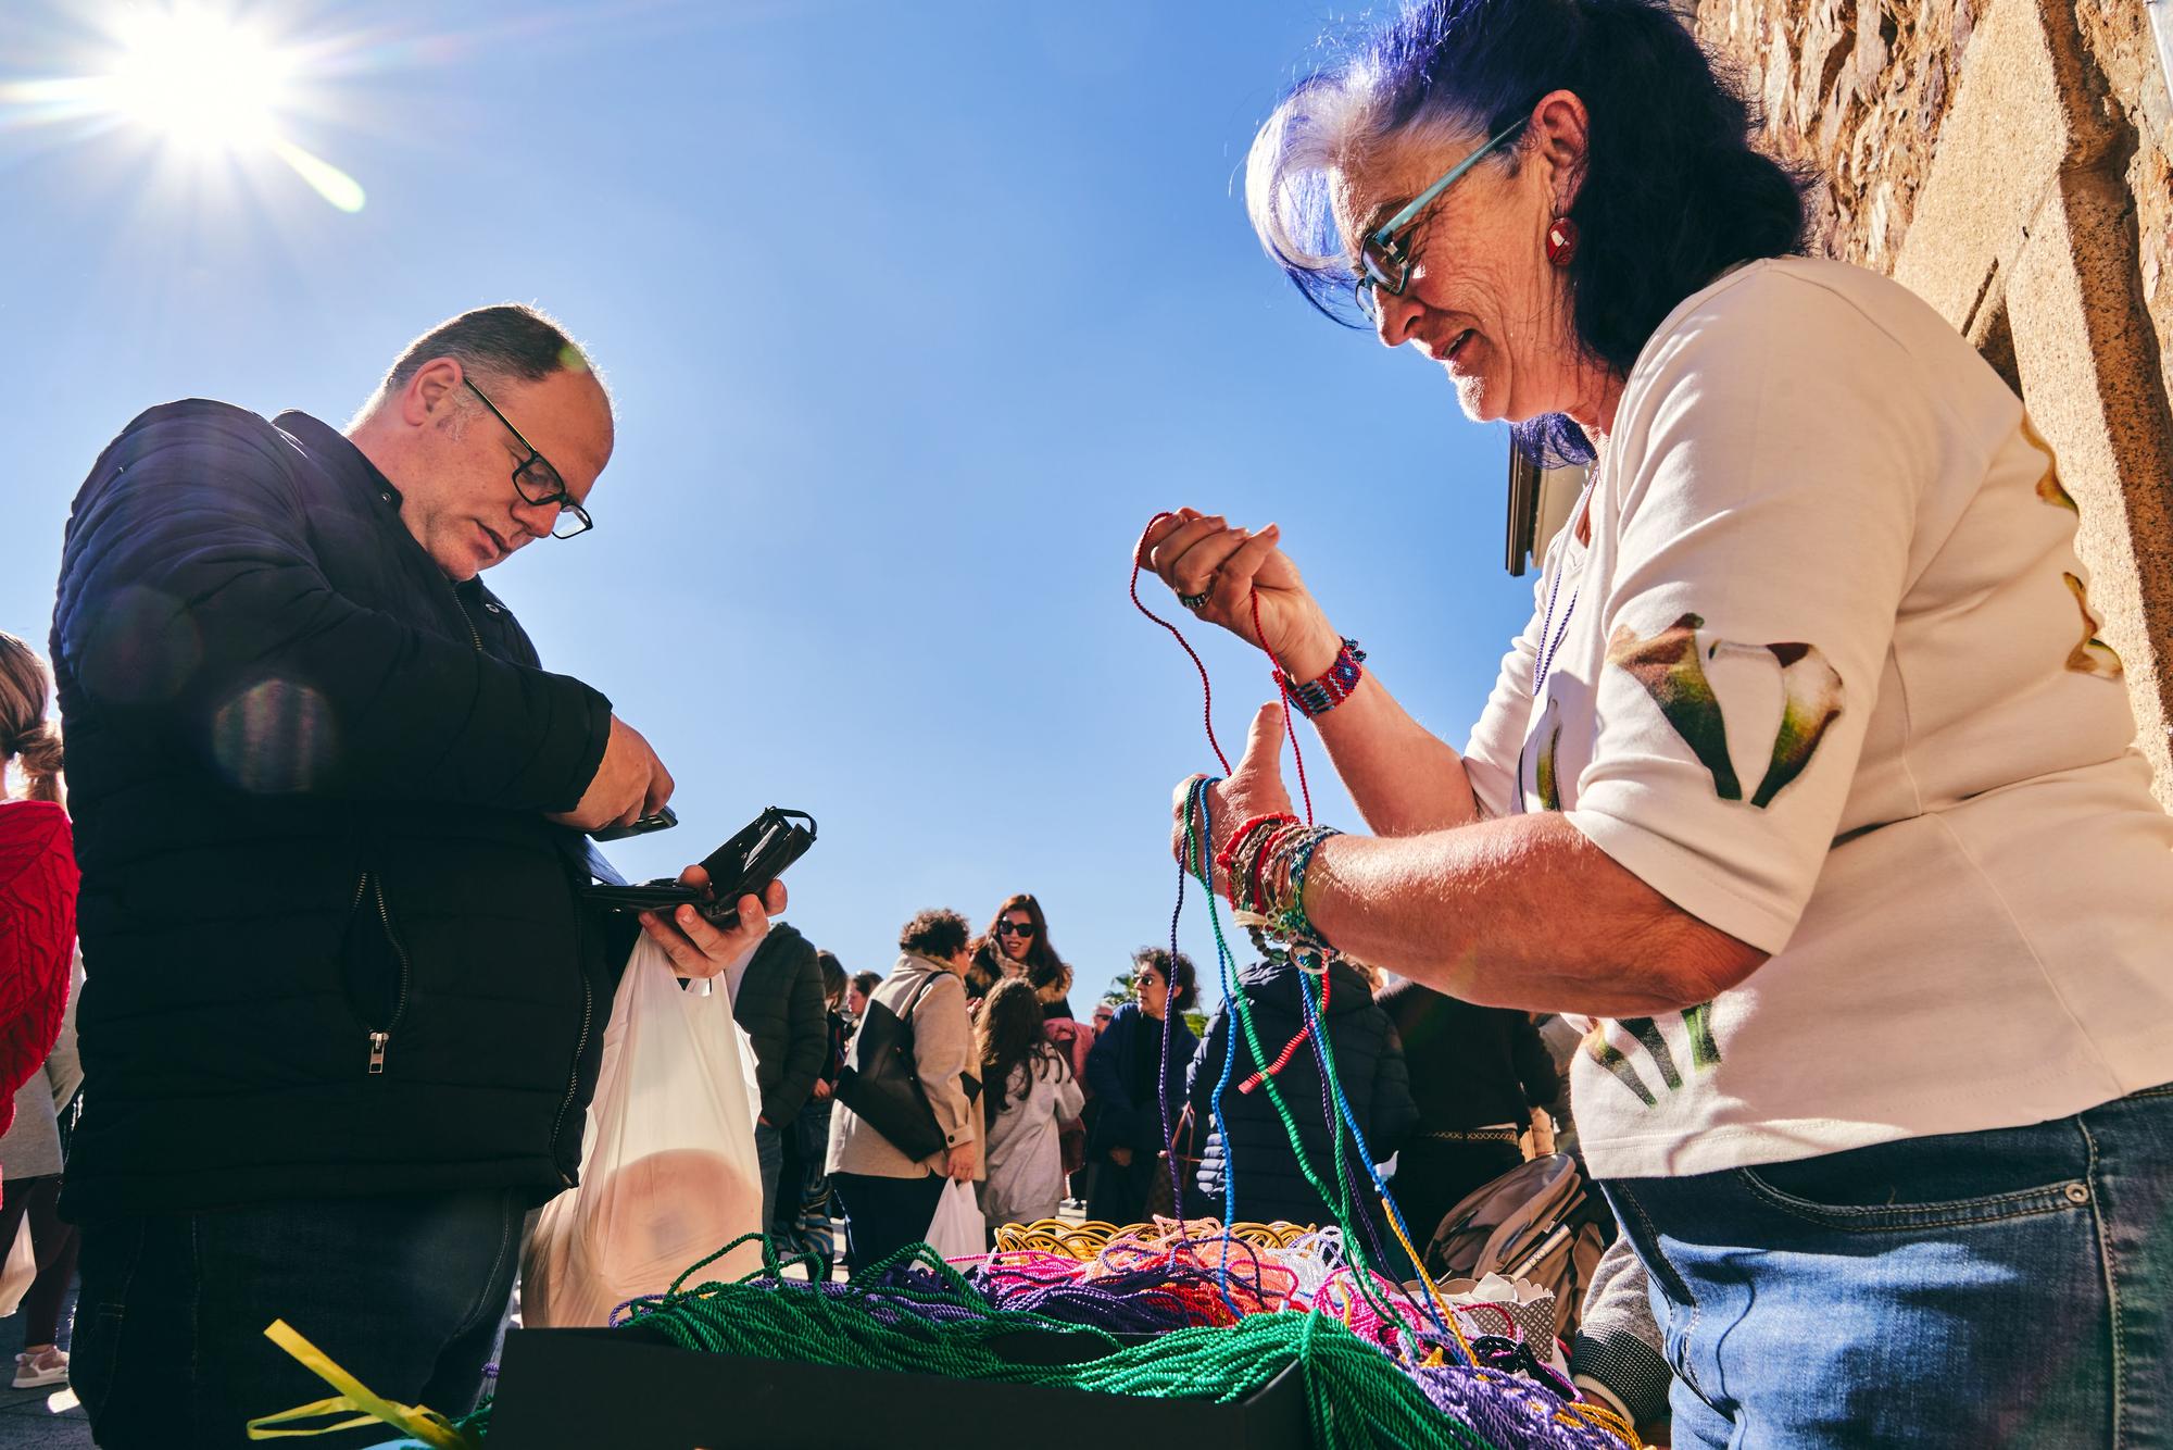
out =
[[[1219,624],[1245,643],[1273,654],[1299,680],[1328,674],[1343,648],[1328,613],[1278,546],[1282,530],[1230,528],[1221,515],[1178,509],[1156,520],[1139,541],[1136,563],[1169,585],[1171,593],[1208,596],[1193,615]],[[1260,600],[1260,628],[1252,604]],[[1265,633],[1265,639],[1260,637]]]

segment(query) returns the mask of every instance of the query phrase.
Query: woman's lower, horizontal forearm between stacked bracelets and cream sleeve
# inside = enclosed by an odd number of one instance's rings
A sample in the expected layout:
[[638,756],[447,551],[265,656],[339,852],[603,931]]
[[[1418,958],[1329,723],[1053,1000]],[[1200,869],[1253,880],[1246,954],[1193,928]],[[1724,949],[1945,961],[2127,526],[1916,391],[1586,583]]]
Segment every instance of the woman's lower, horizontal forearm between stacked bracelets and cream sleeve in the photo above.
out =
[[1404,839],[1334,837],[1306,874],[1306,913],[1358,961],[1523,1011],[1680,1011],[1764,961],[1556,813]]

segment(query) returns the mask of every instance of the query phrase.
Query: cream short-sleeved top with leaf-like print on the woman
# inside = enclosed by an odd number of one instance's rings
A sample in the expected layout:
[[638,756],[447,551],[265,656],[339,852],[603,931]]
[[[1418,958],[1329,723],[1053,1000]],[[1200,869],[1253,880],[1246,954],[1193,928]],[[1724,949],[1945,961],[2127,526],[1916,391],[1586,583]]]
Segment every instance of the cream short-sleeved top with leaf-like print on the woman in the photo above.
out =
[[2173,817],[2075,524],[2021,402],[1897,283],[1760,261],[1654,333],[1591,546],[1547,552],[1467,770],[1486,811],[1565,811],[1771,961],[1688,1013],[1593,1024],[1593,1172],[2021,1126],[2173,1080]]

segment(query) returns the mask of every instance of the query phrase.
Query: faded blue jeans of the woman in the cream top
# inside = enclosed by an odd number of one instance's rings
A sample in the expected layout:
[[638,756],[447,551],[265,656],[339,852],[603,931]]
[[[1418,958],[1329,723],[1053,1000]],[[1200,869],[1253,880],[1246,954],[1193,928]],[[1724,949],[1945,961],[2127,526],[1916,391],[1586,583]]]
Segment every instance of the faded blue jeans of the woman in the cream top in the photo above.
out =
[[1604,1187],[1649,1270],[1675,1446],[2173,1443],[2173,1085]]

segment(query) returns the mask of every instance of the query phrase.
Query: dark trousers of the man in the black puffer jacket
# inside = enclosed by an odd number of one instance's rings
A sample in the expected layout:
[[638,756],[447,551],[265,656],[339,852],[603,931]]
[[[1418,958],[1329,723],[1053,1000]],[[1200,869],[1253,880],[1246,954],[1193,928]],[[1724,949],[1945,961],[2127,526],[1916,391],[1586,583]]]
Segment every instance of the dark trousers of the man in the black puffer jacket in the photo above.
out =
[[[106,1450],[228,1450],[335,1393],[265,1339],[287,1320],[400,1404],[465,1415],[519,1263],[528,1189],[326,1198],[83,1228],[70,1363]],[[391,1439],[343,1430],[313,1450]]]

